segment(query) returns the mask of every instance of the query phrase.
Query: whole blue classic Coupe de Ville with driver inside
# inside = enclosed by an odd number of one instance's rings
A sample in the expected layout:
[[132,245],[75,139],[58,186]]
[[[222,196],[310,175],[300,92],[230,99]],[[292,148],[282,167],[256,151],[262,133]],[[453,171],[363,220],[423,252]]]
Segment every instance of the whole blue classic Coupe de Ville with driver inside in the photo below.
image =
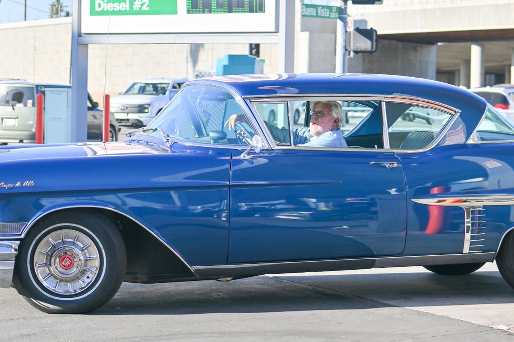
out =
[[189,81],[123,143],[0,147],[0,286],[51,313],[122,281],[495,260],[514,286],[513,150],[511,122],[444,83]]

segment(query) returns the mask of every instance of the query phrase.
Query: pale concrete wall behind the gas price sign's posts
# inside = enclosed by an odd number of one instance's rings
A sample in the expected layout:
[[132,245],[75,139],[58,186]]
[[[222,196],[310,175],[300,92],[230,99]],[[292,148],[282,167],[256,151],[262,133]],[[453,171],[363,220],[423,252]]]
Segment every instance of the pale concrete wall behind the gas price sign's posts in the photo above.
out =
[[[0,25],[0,79],[70,83],[71,18]],[[278,44],[261,44],[264,72],[278,71]],[[133,81],[152,77],[194,78],[196,70],[215,70],[225,54],[247,54],[248,44],[90,45],[88,90],[103,105]],[[107,66],[107,67],[105,67]]]

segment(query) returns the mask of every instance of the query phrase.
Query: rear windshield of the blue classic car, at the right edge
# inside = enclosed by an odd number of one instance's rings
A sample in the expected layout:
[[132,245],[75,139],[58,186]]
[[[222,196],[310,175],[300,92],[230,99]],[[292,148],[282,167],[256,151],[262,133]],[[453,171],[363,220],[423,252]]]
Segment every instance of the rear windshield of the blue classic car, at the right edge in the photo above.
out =
[[471,139],[475,142],[514,140],[514,124],[488,106],[484,120]]

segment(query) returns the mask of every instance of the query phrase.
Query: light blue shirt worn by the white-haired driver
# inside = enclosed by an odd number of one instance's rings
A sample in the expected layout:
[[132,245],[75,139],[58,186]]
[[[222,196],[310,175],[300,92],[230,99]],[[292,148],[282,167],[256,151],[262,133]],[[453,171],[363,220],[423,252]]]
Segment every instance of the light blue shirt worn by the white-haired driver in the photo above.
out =
[[[265,123],[276,141],[289,142],[289,130],[287,128],[278,128],[266,121]],[[301,147],[348,147],[340,129],[324,132],[316,138],[310,134],[309,127],[295,128],[292,130],[292,141],[294,146]]]

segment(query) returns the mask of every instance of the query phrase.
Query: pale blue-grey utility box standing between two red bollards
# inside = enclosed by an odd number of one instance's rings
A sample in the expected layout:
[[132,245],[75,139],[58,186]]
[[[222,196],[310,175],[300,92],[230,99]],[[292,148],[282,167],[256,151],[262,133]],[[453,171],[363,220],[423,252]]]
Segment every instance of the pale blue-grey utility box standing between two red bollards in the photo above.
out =
[[71,142],[71,88],[46,88],[45,144]]

